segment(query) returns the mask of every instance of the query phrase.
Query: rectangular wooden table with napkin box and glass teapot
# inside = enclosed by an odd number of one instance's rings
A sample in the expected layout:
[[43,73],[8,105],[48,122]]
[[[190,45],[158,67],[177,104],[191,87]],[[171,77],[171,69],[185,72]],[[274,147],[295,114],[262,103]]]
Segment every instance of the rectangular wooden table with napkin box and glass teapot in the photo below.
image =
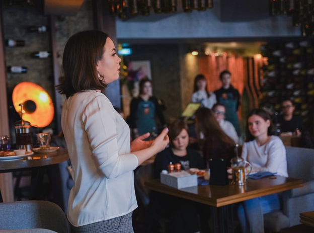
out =
[[[268,194],[302,187],[302,180],[276,176],[258,180],[248,179],[244,186],[239,185],[205,185],[176,189],[160,183],[160,179],[145,181],[145,187],[172,196],[200,202],[215,208],[213,214],[214,232],[232,232],[232,208],[234,203]],[[226,222],[227,221],[227,222]]]

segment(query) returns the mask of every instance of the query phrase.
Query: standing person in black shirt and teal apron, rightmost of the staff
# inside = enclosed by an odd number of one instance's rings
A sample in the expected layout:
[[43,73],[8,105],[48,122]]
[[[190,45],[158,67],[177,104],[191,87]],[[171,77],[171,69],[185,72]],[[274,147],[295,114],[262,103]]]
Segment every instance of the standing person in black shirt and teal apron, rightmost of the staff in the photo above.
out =
[[232,87],[231,73],[228,70],[223,70],[219,79],[222,83],[222,87],[216,90],[214,93],[217,98],[217,102],[225,107],[225,120],[230,121],[238,135],[241,135],[240,121],[238,117],[238,109],[240,106],[240,94],[237,89]]

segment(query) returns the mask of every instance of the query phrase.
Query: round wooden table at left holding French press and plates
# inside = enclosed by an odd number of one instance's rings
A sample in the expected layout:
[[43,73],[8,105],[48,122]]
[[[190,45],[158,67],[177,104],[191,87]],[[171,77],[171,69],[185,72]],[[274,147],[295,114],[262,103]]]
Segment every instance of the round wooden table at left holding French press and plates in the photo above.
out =
[[[31,170],[31,188],[30,188],[30,200],[40,199],[42,186],[43,186],[43,177],[44,177],[44,168],[49,166],[52,170],[56,169],[57,164],[69,160],[67,149],[59,148],[54,152],[48,153],[35,153],[24,157],[19,160],[12,161],[0,161],[0,173],[7,172],[17,172]],[[56,197],[60,197],[60,191],[53,190]],[[1,193],[0,193],[1,194]],[[1,195],[0,198],[2,199]]]

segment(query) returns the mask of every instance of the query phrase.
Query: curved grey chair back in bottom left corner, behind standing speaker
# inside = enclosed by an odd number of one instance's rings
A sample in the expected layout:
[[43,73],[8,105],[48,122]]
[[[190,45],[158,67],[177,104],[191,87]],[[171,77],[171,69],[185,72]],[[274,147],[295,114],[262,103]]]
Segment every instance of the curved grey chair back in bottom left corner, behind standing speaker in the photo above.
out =
[[0,216],[0,230],[6,232],[69,233],[64,212],[49,201],[0,203]]

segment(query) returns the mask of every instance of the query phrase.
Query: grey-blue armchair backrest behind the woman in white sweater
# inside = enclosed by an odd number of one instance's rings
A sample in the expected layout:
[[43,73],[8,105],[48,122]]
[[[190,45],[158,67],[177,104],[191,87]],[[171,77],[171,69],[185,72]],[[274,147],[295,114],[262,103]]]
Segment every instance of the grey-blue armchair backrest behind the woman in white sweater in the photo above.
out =
[[289,177],[314,180],[314,149],[286,146],[286,154]]

